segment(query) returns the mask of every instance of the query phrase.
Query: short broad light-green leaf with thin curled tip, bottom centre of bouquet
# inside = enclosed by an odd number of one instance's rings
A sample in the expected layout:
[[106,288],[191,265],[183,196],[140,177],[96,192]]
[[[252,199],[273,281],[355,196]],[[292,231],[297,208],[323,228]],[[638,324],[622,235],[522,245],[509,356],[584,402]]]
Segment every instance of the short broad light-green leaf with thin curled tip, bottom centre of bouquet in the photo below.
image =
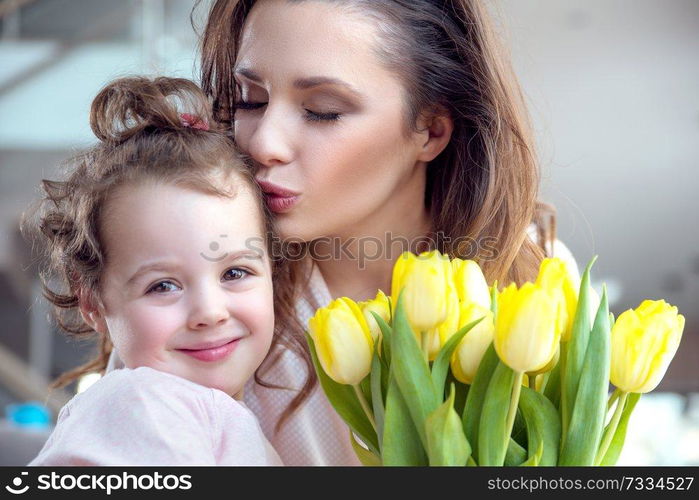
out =
[[471,446],[466,440],[459,415],[454,411],[454,386],[449,399],[429,414],[425,420],[427,456],[430,465],[465,466],[471,456]]

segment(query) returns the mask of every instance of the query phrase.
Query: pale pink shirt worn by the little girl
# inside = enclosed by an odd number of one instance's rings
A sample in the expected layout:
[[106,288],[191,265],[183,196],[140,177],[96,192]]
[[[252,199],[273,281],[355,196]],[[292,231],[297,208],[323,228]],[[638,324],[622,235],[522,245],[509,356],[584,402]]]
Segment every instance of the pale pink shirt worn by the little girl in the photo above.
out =
[[122,368],[76,395],[29,465],[283,465],[257,419],[222,391]]

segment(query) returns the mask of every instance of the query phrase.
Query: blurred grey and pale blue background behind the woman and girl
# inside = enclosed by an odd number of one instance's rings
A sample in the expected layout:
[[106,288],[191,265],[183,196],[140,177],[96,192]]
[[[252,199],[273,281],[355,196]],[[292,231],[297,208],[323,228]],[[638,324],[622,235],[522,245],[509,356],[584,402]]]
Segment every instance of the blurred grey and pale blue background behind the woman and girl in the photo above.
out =
[[[193,3],[0,0],[0,465],[38,453],[79,390],[48,384],[95,352],[50,320],[20,217],[40,180],[94,141],[89,105],[106,82],[196,79]],[[580,268],[600,256],[595,285],[606,283],[617,316],[664,298],[686,317],[680,351],[641,398],[619,464],[697,465],[699,2],[487,3],[528,100],[558,237]]]

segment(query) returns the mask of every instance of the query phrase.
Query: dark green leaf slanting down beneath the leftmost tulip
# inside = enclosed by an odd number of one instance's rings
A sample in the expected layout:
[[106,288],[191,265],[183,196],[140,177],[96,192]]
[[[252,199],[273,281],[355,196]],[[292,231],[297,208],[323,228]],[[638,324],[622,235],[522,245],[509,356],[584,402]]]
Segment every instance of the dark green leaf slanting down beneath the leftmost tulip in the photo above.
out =
[[371,422],[369,422],[362,406],[359,404],[354,389],[349,385],[338,384],[325,373],[318,361],[318,354],[316,353],[313,339],[308,333],[306,333],[306,340],[311,351],[313,366],[318,374],[318,380],[328,401],[330,401],[330,404],[332,404],[335,411],[342,417],[350,429],[359,436],[359,439],[366,443],[373,453],[378,455],[379,443],[376,431],[374,431]]

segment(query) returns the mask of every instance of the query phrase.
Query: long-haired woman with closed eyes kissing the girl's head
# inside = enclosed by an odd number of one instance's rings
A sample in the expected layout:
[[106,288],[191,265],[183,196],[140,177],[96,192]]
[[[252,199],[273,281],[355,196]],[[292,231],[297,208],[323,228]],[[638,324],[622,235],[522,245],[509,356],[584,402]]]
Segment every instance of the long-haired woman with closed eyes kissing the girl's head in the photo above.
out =
[[577,272],[537,203],[522,96],[480,1],[218,0],[202,85],[293,240],[275,283],[286,340],[246,387],[285,464],[358,463],[303,330],[332,298],[388,292],[406,244],[501,285],[546,254]]

